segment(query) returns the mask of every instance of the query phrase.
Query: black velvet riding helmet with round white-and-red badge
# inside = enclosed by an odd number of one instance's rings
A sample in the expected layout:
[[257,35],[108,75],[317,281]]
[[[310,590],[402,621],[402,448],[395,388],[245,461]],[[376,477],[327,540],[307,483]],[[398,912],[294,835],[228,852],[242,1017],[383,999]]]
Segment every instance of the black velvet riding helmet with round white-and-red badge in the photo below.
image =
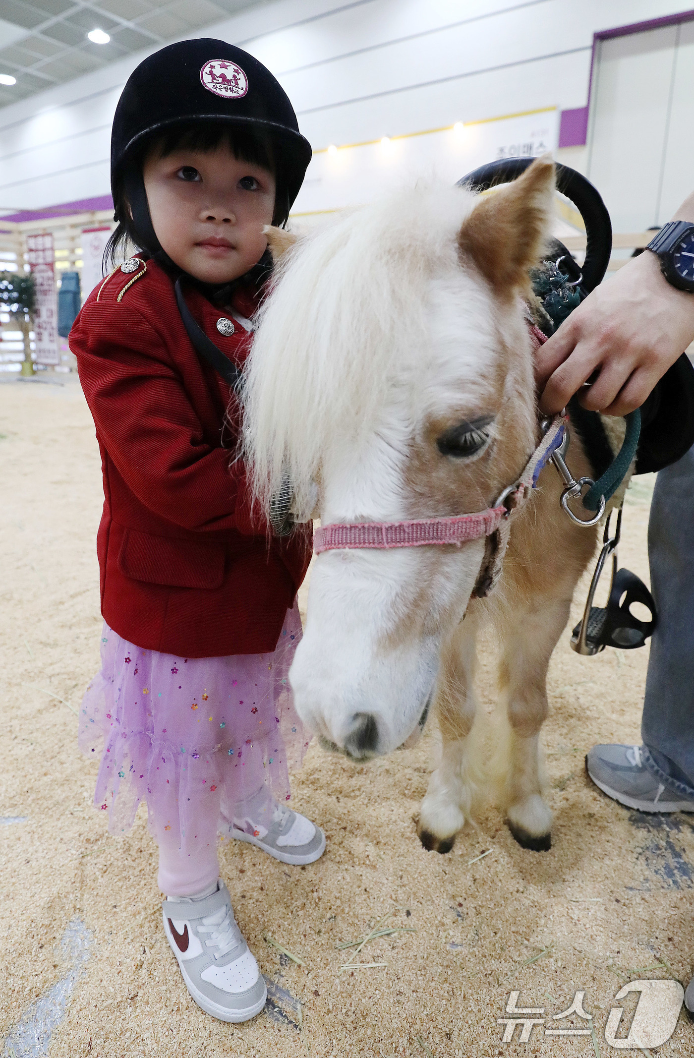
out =
[[114,219],[126,220],[118,216],[125,188],[138,241],[150,254],[161,254],[161,247],[142,179],[146,144],[175,126],[218,123],[259,133],[271,144],[277,187],[273,222],[287,220],[311,161],[311,145],[298,130],[287,93],[240,48],[212,38],[182,40],[150,55],[131,73],[111,132]]

